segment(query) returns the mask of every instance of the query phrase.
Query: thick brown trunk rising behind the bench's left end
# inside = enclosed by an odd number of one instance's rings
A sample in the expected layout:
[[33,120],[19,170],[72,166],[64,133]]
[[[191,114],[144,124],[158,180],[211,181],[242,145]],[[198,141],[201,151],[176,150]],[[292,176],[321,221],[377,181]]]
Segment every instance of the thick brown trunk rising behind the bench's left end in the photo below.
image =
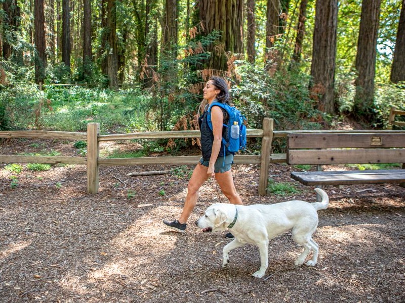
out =
[[316,0],[310,85],[320,95],[318,109],[334,114],[338,0]]

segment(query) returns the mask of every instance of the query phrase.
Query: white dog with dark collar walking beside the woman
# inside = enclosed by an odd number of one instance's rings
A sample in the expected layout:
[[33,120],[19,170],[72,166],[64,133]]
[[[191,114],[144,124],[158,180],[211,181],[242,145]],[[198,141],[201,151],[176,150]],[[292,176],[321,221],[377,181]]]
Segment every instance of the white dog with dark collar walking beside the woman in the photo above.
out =
[[318,210],[328,208],[329,197],[322,189],[315,188],[321,202],[308,203],[292,200],[272,205],[234,205],[216,203],[210,206],[205,215],[195,221],[203,232],[229,230],[235,237],[222,250],[222,267],[229,263],[229,251],[245,244],[254,244],[260,251],[260,269],[252,274],[262,278],[268,267],[269,240],[292,231],[293,240],[304,246],[295,265],[302,265],[309,252],[313,256],[306,265],[315,266],[318,258],[318,244],[312,239],[318,225]]

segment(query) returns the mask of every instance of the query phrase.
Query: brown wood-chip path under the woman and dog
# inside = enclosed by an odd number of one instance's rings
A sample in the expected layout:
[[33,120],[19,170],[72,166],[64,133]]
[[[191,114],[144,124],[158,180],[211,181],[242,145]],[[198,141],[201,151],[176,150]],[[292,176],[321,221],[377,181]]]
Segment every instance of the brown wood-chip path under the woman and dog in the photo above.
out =
[[[18,149],[18,147],[10,147]],[[161,220],[177,218],[188,172],[126,177],[169,167],[100,169],[100,192],[86,194],[83,166],[20,174],[0,170],[0,293],[2,302],[400,302],[405,300],[405,188],[397,185],[326,187],[331,204],[319,212],[314,268],[295,267],[302,251],[286,234],[273,239],[265,278],[255,246],[231,253],[221,267],[223,233],[193,224],[218,201],[207,182],[185,234]],[[172,168],[174,169],[174,168]],[[290,167],[271,165],[276,182]],[[234,168],[246,204],[315,200],[312,188],[295,196],[258,196],[259,167]],[[120,179],[120,180],[118,180]],[[298,185],[298,183],[297,183]],[[221,194],[221,200],[225,197]]]

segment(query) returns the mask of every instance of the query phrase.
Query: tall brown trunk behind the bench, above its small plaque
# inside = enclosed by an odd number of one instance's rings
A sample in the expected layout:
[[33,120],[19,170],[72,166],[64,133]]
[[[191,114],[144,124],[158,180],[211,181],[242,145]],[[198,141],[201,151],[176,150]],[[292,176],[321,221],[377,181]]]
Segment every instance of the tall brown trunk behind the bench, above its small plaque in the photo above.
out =
[[374,76],[381,0],[363,0],[358,32],[356,70],[358,72],[354,112],[363,118],[373,117]]

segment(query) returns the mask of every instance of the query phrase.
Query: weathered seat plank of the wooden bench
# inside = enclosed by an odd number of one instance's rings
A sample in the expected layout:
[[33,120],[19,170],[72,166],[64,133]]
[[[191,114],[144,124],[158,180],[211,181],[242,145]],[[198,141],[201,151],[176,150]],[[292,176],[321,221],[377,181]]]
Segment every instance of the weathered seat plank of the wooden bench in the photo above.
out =
[[351,185],[405,182],[405,170],[356,170],[332,172],[293,172],[291,178],[304,185]]

